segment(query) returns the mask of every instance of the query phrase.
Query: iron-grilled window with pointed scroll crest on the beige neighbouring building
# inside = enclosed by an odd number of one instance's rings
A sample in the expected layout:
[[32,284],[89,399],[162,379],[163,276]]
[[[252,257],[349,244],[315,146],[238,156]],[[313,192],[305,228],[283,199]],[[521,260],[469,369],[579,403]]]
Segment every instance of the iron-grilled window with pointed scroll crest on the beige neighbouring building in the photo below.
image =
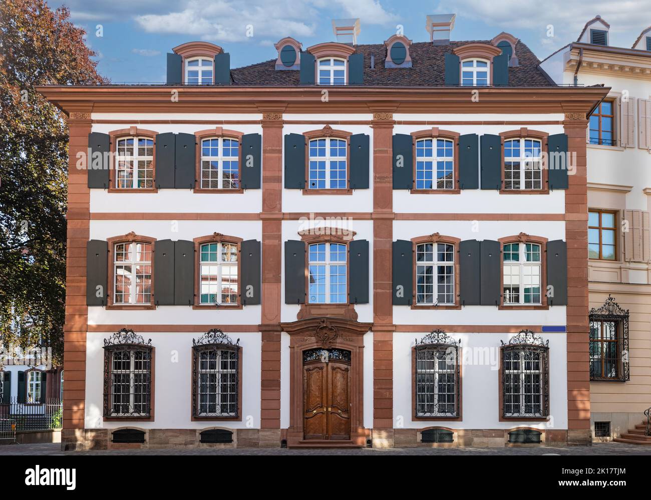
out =
[[630,380],[628,365],[628,309],[610,295],[590,318],[590,380]]

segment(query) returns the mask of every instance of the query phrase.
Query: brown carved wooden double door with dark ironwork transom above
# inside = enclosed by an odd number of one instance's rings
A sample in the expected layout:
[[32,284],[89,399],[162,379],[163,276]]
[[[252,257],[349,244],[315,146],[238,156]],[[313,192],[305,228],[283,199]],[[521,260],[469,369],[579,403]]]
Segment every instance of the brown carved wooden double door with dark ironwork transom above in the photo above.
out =
[[303,352],[304,439],[350,439],[350,351]]

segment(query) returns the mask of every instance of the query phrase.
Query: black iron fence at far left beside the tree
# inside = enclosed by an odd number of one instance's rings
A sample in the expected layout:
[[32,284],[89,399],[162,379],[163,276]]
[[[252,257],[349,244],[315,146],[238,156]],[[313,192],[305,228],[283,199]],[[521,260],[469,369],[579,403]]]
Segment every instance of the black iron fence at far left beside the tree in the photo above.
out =
[[0,402],[0,420],[14,421],[18,431],[60,429],[63,424],[63,404],[54,398],[35,404],[10,398],[7,402]]

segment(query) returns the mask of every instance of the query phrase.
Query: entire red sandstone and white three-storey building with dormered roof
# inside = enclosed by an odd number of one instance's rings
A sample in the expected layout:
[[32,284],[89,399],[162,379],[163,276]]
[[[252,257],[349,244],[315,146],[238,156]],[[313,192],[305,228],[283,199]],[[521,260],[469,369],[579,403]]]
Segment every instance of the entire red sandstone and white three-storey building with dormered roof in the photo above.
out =
[[590,443],[608,89],[453,25],[39,89],[70,126],[64,447]]

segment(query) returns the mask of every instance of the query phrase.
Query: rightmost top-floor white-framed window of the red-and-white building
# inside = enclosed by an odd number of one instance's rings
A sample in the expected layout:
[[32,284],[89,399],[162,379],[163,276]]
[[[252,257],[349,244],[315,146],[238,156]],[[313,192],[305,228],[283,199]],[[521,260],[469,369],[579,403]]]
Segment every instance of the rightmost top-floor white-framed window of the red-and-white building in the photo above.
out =
[[542,141],[504,141],[504,188],[542,189]]

